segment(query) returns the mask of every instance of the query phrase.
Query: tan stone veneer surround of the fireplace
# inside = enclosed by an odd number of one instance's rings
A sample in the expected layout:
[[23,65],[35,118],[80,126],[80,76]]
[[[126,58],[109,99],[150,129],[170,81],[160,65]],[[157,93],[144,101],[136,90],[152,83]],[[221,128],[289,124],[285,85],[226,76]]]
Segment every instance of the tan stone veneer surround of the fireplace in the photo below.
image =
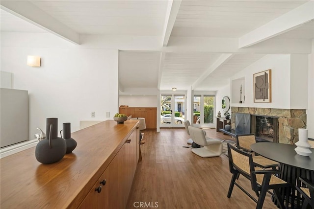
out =
[[277,116],[279,122],[279,143],[294,144],[299,140],[299,128],[306,128],[305,110],[273,108],[231,107],[231,128],[235,129],[235,113],[249,113],[261,116]]

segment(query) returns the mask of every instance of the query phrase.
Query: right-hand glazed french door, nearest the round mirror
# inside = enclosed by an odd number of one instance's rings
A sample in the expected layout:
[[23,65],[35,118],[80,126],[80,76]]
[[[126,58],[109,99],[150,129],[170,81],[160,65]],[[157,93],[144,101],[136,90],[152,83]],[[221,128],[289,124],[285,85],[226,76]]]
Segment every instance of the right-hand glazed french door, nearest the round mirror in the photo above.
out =
[[193,126],[199,128],[215,128],[214,125],[215,96],[195,94],[193,100]]

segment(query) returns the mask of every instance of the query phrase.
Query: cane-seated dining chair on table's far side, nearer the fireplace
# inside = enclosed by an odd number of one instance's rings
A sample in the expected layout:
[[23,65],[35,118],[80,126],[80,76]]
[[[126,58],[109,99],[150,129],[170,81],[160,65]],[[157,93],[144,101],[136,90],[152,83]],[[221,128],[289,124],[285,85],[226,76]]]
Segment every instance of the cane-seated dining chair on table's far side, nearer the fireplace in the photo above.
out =
[[251,150],[251,145],[256,143],[254,134],[241,134],[236,135],[236,147],[249,153],[253,153],[253,162],[256,166],[262,168],[273,168],[276,169],[278,162],[269,160],[260,155],[256,155],[253,150]]

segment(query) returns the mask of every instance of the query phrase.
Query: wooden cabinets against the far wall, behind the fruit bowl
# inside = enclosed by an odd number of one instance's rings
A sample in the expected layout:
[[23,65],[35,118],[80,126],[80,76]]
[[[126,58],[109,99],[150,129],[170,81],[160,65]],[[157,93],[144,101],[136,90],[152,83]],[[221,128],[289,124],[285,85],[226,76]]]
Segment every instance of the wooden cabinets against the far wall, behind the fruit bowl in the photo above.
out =
[[119,113],[132,117],[144,117],[146,128],[157,128],[156,107],[120,107]]

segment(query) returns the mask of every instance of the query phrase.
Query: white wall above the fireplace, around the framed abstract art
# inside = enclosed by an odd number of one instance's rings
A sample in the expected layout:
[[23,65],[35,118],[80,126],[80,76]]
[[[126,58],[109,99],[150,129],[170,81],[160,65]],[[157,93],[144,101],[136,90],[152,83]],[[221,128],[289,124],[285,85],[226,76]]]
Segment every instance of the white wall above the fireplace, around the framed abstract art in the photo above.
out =
[[[306,109],[308,137],[314,139],[314,41],[312,48],[309,55],[266,55],[235,74],[231,80],[245,77],[245,103],[232,103],[231,106]],[[268,69],[272,70],[272,102],[254,103],[253,74]],[[224,91],[217,91],[216,107]]]

